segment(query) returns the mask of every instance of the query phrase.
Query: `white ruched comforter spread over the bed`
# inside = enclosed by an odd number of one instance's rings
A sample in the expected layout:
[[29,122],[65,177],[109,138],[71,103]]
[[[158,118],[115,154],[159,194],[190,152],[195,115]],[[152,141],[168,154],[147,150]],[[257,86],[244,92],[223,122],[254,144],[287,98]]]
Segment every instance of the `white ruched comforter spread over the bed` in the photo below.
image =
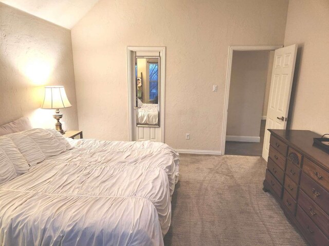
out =
[[178,154],[149,141],[74,143],[0,186],[0,244],[163,245]]

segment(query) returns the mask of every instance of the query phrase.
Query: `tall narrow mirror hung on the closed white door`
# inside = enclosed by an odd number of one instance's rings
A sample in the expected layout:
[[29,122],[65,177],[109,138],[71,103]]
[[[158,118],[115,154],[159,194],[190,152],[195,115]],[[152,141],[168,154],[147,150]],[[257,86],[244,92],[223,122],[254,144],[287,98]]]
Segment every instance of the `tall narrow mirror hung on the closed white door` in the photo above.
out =
[[159,127],[159,58],[135,58],[138,127]]

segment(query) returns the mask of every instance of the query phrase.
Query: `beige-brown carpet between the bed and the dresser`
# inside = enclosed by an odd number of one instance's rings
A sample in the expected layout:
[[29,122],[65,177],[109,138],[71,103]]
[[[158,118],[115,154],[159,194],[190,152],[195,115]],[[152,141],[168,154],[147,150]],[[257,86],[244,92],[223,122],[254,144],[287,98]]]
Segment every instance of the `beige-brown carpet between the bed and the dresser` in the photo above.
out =
[[256,156],[180,155],[165,245],[307,245],[263,192]]

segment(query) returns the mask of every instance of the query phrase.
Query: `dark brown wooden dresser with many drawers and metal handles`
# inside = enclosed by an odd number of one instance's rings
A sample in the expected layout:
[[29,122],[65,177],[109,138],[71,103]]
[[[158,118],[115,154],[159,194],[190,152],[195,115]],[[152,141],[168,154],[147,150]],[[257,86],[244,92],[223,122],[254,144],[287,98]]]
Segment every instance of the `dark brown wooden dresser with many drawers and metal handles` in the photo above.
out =
[[314,246],[329,246],[329,152],[313,144],[320,135],[303,130],[269,130],[264,191],[279,201],[286,217]]

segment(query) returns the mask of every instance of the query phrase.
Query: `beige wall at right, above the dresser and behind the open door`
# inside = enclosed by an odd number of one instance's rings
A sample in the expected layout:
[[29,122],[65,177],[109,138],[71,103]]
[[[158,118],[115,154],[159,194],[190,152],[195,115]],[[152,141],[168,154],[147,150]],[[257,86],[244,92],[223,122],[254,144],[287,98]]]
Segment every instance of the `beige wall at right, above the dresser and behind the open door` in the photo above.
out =
[[290,0],[284,45],[292,44],[299,48],[289,110],[290,128],[328,133],[328,0]]

